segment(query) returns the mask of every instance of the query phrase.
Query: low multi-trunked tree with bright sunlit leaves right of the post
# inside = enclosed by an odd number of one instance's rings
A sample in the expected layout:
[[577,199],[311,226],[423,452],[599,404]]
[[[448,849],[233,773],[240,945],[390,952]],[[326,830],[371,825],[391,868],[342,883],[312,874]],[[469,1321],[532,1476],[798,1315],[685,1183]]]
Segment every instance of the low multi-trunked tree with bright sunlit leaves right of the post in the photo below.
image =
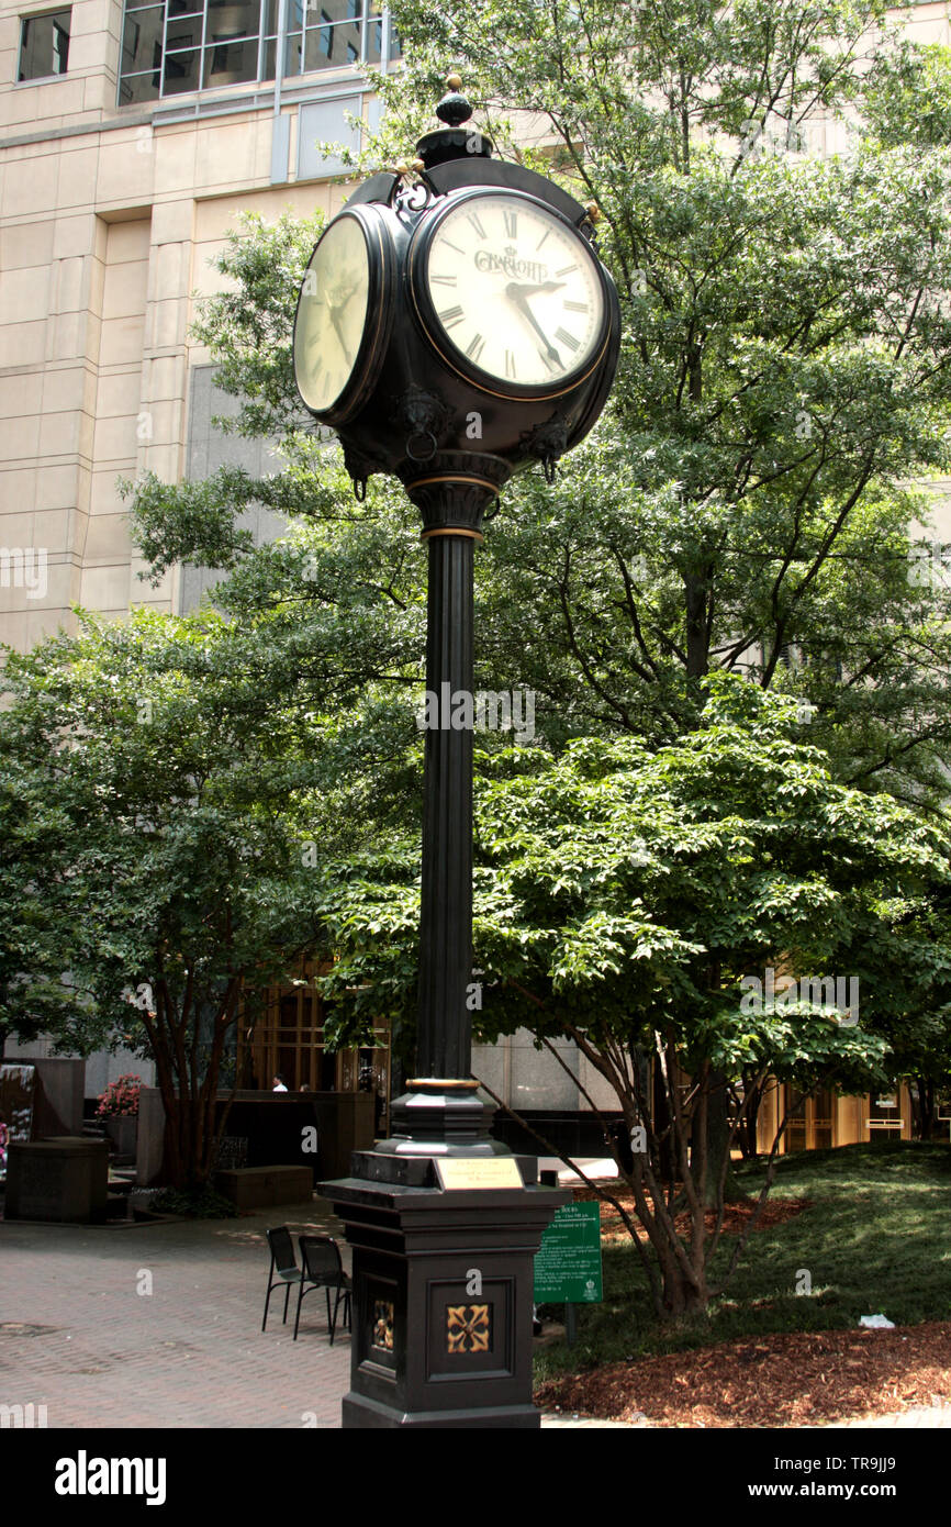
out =
[[[476,793],[481,1031],[492,1038],[525,1025],[551,1054],[568,1035],[614,1092],[624,1136],[606,1121],[604,1138],[633,1193],[635,1219],[621,1212],[659,1316],[705,1309],[746,1243],[714,1284],[730,1148],[743,1122],[740,1109],[725,1148],[711,1148],[724,1077],[751,1078],[746,1107],[769,1075],[804,1093],[864,1090],[893,1075],[887,989],[916,939],[902,939],[887,901],[943,889],[951,873],[945,835],[896,802],[837,783],[821,750],[792,739],[788,701],[736,680],[708,687],[704,725],[675,744],[580,739],[559,759],[513,750],[485,760]],[[322,916],[339,954],[325,986],[350,1032],[380,1006],[406,1012],[412,851],[327,872]],[[743,983],[768,965],[798,979],[774,1006]],[[817,973],[859,967],[858,1022],[803,988]]]

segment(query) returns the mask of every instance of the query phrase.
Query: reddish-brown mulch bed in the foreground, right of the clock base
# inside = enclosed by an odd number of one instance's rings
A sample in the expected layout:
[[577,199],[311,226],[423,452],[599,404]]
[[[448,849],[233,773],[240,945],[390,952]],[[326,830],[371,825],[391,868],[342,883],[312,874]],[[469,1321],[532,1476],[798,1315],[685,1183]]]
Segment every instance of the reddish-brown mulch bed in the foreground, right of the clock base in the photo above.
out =
[[815,1426],[951,1402],[951,1321],[792,1332],[548,1379],[559,1406],[656,1426]]

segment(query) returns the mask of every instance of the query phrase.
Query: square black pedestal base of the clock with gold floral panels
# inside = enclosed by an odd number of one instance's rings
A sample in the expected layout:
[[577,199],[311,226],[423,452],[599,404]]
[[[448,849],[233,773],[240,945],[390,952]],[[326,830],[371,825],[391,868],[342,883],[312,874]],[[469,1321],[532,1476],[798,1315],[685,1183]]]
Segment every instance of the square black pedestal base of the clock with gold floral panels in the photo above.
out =
[[[476,1087],[411,1081],[394,1106],[394,1138],[354,1153],[351,1177],[321,1183],[353,1246],[345,1428],[539,1426],[534,1257],[568,1194],[469,1185],[514,1177],[514,1157],[487,1135],[492,1113]],[[507,1174],[498,1157],[511,1162]],[[455,1162],[464,1185],[440,1186],[440,1173],[456,1180]]]

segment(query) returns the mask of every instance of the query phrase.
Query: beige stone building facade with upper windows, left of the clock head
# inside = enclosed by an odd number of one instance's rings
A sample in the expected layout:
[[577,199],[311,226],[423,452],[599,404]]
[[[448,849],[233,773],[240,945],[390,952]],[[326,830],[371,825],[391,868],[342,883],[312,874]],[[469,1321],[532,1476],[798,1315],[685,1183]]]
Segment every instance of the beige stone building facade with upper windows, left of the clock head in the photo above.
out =
[[69,629],[72,603],[185,608],[180,571],[137,579],[119,479],[206,464],[208,356],[189,325],[220,281],[208,261],[241,211],[345,199],[318,145],[356,140],[348,113],[374,121],[360,64],[397,47],[374,0],[3,5],[5,641]]

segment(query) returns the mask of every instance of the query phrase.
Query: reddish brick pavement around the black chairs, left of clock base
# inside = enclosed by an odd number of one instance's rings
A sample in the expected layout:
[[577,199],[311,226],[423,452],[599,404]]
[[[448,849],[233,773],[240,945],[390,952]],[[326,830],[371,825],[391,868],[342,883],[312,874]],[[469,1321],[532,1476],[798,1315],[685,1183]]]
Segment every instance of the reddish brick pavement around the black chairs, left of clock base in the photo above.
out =
[[[0,1403],[46,1405],[50,1428],[333,1428],[350,1335],[327,1339],[322,1293],[301,1333],[275,1289],[261,1332],[264,1231],[336,1226],[319,1200],[238,1220],[130,1226],[0,1225]],[[350,1248],[342,1245],[350,1270]],[[153,1292],[137,1293],[151,1274]]]

